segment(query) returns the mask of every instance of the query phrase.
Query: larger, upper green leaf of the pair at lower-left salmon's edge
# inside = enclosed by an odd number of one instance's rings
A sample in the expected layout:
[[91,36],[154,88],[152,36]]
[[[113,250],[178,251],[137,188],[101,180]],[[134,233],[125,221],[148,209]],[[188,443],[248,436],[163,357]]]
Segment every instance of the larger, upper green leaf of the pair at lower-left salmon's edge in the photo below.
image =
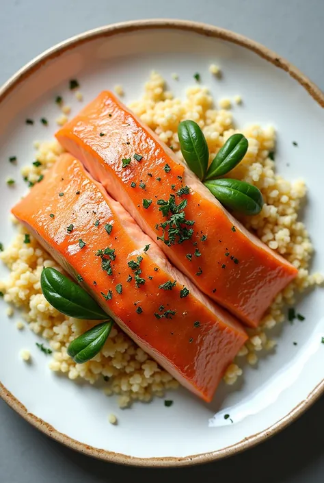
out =
[[83,288],[55,269],[43,269],[40,286],[49,304],[68,317],[92,320],[108,318]]

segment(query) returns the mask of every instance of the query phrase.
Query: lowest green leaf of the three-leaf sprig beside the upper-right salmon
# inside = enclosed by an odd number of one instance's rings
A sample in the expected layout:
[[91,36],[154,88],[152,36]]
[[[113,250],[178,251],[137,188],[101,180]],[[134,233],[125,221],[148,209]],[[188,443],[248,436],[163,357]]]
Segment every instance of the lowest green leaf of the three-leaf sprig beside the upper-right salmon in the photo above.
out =
[[252,184],[237,179],[222,178],[211,179],[204,185],[222,205],[230,210],[243,214],[258,214],[262,210],[262,195]]

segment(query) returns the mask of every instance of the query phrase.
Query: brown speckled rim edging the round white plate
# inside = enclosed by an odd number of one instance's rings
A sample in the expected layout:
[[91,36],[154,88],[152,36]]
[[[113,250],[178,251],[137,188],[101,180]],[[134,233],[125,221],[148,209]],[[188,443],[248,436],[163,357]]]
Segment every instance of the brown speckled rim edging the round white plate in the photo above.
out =
[[[250,51],[253,51],[260,57],[264,58],[271,64],[275,65],[279,69],[286,71],[293,79],[296,80],[309,95],[318,103],[322,108],[324,108],[324,95],[321,90],[315,86],[308,77],[303,75],[301,71],[296,69],[290,62],[282,59],[279,55],[273,51],[263,47],[262,45],[249,40],[248,38],[241,36],[239,34],[234,34],[229,30],[220,29],[218,27],[213,27],[212,25],[206,25],[204,23],[196,23],[190,21],[180,21],[180,20],[168,20],[168,19],[152,19],[144,21],[130,21],[123,23],[115,23],[113,25],[107,25],[105,27],[99,27],[98,29],[90,30],[84,34],[79,34],[64,42],[61,42],[55,47],[44,51],[41,55],[34,58],[26,64],[22,69],[20,69],[13,77],[11,77],[8,82],[6,82],[0,89],[0,103],[16,88],[19,84],[30,77],[35,71],[40,69],[41,66],[46,64],[47,61],[53,60],[53,58],[58,57],[62,53],[77,47],[85,42],[94,40],[100,37],[110,37],[116,34],[136,32],[137,30],[148,30],[148,29],[175,29],[187,32],[195,32],[202,36],[219,38],[221,40],[226,40],[227,42],[232,42],[237,45],[241,45]],[[197,465],[200,463],[211,462],[213,460],[219,460],[221,458],[226,458],[232,456],[247,448],[251,448],[265,439],[277,434],[295,419],[297,419],[304,411],[306,411],[316,399],[318,399],[324,393],[324,379],[322,382],[316,386],[313,391],[303,399],[293,410],[288,412],[286,416],[277,423],[273,424],[267,430],[244,438],[239,443],[219,449],[217,451],[211,451],[210,453],[195,454],[192,456],[186,456],[185,458],[172,458],[170,456],[165,456],[164,458],[133,458],[132,456],[126,456],[120,453],[113,453],[112,451],[107,451],[105,449],[98,449],[84,443],[80,443],[75,439],[66,436],[61,432],[58,432],[42,419],[36,417],[34,414],[28,412],[27,408],[21,404],[14,395],[12,395],[0,382],[0,397],[18,414],[20,414],[26,421],[31,423],[35,428],[41,430],[47,436],[59,441],[72,449],[80,451],[83,454],[92,456],[94,458],[99,458],[101,460],[106,460],[109,462],[119,463],[121,465],[134,465],[141,467],[180,467],[187,465]]]

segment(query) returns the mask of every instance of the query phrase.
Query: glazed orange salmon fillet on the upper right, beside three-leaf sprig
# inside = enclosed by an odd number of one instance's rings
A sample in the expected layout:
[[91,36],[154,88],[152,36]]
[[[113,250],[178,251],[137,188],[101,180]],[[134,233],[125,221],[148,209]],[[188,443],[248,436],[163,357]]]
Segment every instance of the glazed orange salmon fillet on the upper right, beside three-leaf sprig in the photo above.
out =
[[[247,325],[256,327],[275,295],[297,275],[111,92],[101,92],[56,137],[180,271]],[[122,160],[129,164],[123,167]],[[152,200],[148,209],[143,199]],[[185,220],[194,222],[180,223],[183,230],[176,234],[161,225],[170,220],[172,199],[177,205],[187,200]]]

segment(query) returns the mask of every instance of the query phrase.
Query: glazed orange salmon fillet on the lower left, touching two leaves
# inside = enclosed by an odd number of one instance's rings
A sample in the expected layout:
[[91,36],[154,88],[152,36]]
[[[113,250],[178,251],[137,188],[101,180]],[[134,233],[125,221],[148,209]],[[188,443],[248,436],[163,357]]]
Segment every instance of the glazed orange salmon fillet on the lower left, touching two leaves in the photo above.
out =
[[68,273],[81,275],[126,334],[211,401],[247,340],[243,327],[172,267],[81,162],[62,155],[12,213]]

